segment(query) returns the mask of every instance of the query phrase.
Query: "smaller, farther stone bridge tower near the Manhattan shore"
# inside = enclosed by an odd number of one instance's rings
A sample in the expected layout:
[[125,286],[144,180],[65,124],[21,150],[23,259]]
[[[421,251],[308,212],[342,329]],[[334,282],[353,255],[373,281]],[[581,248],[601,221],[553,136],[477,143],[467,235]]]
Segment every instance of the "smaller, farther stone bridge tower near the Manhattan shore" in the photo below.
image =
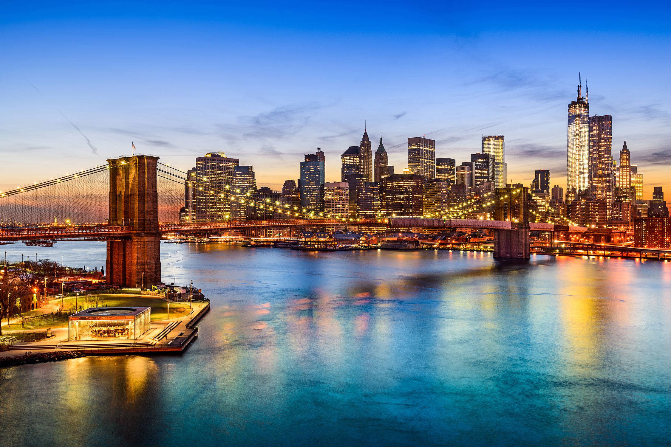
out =
[[510,220],[510,230],[494,231],[494,257],[529,259],[529,188],[497,188],[494,220]]

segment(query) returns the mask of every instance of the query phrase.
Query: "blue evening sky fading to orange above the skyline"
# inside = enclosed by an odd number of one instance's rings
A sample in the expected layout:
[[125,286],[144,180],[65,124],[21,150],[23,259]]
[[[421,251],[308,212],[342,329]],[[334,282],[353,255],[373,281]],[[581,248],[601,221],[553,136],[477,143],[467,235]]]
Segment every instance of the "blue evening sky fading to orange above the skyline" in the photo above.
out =
[[[671,194],[671,3],[0,3],[0,190],[151,153],[184,170],[225,151],[258,186],[327,182],[364,123],[389,164],[407,138],[457,164],[505,135],[508,181],[566,187],[578,73],[653,186]],[[472,3],[472,4],[464,4]]]

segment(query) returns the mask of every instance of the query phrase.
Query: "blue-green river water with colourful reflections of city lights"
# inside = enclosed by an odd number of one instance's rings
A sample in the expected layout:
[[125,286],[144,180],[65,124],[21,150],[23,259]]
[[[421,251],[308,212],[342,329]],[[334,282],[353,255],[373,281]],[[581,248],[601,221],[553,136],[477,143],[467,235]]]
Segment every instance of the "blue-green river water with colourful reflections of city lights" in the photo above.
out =
[[[0,444],[670,442],[671,263],[161,249],[164,281],[211,299],[197,341],[0,370]],[[100,267],[105,244],[38,253]]]

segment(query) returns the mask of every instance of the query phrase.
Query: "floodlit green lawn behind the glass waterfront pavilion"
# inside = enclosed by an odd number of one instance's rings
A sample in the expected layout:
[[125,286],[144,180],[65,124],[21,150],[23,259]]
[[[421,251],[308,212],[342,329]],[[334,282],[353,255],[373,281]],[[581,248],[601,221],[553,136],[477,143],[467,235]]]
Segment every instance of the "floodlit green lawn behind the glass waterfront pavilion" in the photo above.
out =
[[[61,300],[52,300],[51,304],[57,304],[60,306]],[[74,303],[75,298],[69,297],[64,298],[63,307],[65,310],[72,308],[74,312]],[[123,307],[150,307],[152,308],[152,321],[157,320],[166,320],[168,318],[167,308],[168,304],[166,303],[165,298],[156,297],[156,296],[140,296],[140,295],[123,295],[123,294],[101,294],[101,295],[89,295],[89,296],[80,296],[76,299],[77,306],[83,306],[85,309],[92,307],[110,307],[110,308],[123,308]],[[189,303],[188,302],[170,302],[170,320],[173,318],[179,318],[189,314]],[[70,312],[68,312],[70,313]],[[23,316],[25,318],[30,318],[44,314],[44,308],[38,310],[31,310],[30,312],[25,312]],[[46,329],[46,328],[66,328],[68,326],[68,316],[53,316],[52,314],[44,314],[44,318],[34,318],[30,321],[24,323],[21,326],[21,323],[15,324],[12,323],[7,326],[3,326],[3,330],[25,330],[25,329]]]

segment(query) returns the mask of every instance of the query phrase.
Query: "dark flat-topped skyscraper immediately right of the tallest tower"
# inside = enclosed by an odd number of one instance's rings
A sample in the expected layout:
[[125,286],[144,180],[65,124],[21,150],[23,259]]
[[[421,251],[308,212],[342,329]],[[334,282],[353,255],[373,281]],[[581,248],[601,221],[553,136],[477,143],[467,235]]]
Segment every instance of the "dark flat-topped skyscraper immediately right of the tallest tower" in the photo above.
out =
[[589,118],[589,194],[595,200],[613,202],[613,117],[595,115]]

